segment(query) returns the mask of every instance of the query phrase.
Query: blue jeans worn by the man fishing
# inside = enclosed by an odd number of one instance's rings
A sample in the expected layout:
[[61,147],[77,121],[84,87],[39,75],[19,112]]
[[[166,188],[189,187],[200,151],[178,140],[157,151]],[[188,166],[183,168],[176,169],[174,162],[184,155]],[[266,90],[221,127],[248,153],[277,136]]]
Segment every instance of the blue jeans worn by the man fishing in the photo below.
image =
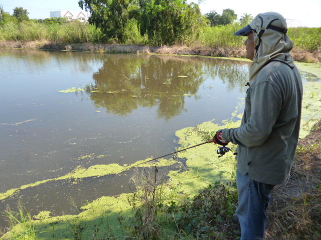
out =
[[236,172],[239,192],[238,207],[235,211],[241,225],[240,240],[264,239],[267,221],[266,209],[274,185],[251,180],[249,174]]

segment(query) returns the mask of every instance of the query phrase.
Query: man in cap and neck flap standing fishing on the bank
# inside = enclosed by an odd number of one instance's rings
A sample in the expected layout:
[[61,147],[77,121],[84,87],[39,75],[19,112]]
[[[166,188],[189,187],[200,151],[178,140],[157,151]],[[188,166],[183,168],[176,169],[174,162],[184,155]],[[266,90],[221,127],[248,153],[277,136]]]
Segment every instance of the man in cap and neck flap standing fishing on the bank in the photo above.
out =
[[264,239],[270,193],[284,183],[298,142],[302,81],[289,51],[284,17],[258,14],[235,32],[247,36],[249,86],[241,126],[217,131],[213,142],[237,144],[238,207],[241,240]]

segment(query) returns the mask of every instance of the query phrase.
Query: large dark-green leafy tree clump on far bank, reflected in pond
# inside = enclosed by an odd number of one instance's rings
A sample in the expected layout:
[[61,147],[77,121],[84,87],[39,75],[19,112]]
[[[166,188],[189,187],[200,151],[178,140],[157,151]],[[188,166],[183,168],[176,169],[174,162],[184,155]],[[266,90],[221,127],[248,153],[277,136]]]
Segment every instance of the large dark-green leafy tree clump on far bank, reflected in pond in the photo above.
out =
[[[204,17],[199,6],[185,0],[79,0],[89,9],[89,23],[119,43],[138,27],[153,44],[187,42],[200,32]],[[133,24],[136,22],[137,24]],[[135,29],[138,29],[135,28]]]

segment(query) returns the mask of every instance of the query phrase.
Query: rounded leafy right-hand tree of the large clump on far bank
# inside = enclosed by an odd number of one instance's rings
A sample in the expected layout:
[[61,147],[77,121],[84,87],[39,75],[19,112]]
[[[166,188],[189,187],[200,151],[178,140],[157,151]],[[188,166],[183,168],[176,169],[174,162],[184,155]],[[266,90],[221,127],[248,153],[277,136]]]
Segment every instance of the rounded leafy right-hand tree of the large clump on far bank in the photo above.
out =
[[197,4],[187,4],[182,0],[141,3],[140,34],[146,33],[151,44],[188,43],[200,34],[202,25],[204,18]]

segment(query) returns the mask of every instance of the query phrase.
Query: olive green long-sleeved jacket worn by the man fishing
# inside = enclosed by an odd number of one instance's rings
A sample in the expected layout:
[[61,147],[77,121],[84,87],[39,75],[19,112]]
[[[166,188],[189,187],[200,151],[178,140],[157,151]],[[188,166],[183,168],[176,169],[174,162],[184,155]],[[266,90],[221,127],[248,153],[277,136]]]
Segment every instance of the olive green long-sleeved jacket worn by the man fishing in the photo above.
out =
[[223,129],[238,144],[237,169],[252,180],[282,184],[289,176],[298,142],[302,81],[294,64],[265,65],[245,97],[241,126]]

